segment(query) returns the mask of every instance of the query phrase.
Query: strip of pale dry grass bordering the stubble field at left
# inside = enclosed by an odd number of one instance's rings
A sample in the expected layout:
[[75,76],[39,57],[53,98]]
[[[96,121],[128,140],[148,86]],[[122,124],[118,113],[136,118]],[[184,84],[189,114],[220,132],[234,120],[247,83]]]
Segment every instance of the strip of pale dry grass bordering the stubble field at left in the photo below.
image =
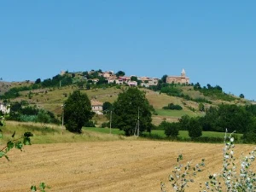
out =
[[[87,130],[88,129],[88,130]],[[80,142],[95,142],[95,141],[116,141],[116,140],[131,140],[132,137],[124,137],[122,134],[117,134],[118,130],[113,130],[113,134],[102,134],[101,131],[91,131],[93,128],[85,128],[82,134],[74,134],[62,129],[58,125],[47,125],[36,123],[21,123],[15,121],[7,121],[7,125],[3,127],[3,139],[0,140],[0,145],[3,145],[12,139],[11,136],[15,132],[15,138],[22,137],[26,131],[32,132],[32,143],[80,143]],[[104,129],[101,129],[104,130]]]

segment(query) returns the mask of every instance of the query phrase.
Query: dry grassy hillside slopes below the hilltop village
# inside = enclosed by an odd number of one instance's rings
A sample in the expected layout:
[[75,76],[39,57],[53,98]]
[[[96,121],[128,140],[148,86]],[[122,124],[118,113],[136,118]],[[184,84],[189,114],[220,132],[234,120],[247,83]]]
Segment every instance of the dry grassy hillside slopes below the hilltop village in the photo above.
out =
[[[65,85],[64,83],[59,83],[56,81],[55,86],[45,87],[38,86],[33,82],[1,82],[0,84],[0,96],[6,93],[8,90],[12,88],[26,88],[32,87],[32,89],[21,89],[18,91],[18,96],[14,96],[15,98],[10,98],[9,102],[21,102],[26,101],[30,106],[43,108],[48,110],[56,115],[58,119],[61,119],[62,108],[61,105],[67,99],[73,90],[81,90],[86,93],[90,99],[97,100],[99,102],[114,102],[119,93],[124,89],[127,89],[127,85],[116,85],[116,86],[105,86],[104,84],[100,86],[92,86],[90,85],[90,89],[85,89],[84,84],[86,81],[83,79],[82,73],[70,73],[67,75],[67,79],[72,79],[71,84]],[[57,75],[55,77],[60,78],[61,76]],[[53,78],[53,80],[55,79]],[[53,81],[52,80],[52,81]],[[65,80],[65,79],[64,79]],[[63,79],[60,82],[64,82]],[[46,80],[44,80],[45,82]],[[89,80],[87,80],[88,82]],[[44,84],[42,82],[42,84]],[[79,84],[80,83],[80,84]],[[83,85],[81,86],[81,83]],[[63,85],[64,84],[64,85]],[[88,84],[88,83],[87,83]],[[36,86],[37,85],[37,86]],[[195,84],[196,85],[196,84]],[[153,123],[154,125],[159,125],[163,120],[167,120],[170,122],[177,121],[184,114],[188,114],[189,116],[201,116],[204,112],[199,110],[199,104],[203,103],[204,108],[210,108],[210,106],[216,106],[221,103],[227,104],[244,104],[248,101],[245,99],[241,99],[236,96],[223,94],[221,96],[225,96],[223,98],[227,98],[222,100],[220,97],[216,98],[216,96],[211,96],[211,94],[206,94],[201,90],[196,90],[195,86],[192,85],[174,85],[171,90],[168,90],[166,87],[163,87],[162,90],[166,90],[166,93],[161,91],[149,90],[146,88],[140,88],[141,90],[146,92],[146,96],[148,98],[149,103],[154,107],[156,113],[153,115]],[[204,90],[204,88],[202,89]],[[171,91],[171,92],[168,92]],[[175,94],[172,93],[174,91]],[[178,91],[176,93],[175,91]],[[207,91],[207,90],[206,90]],[[15,93],[17,94],[17,93]],[[177,95],[177,96],[176,96]],[[230,98],[230,99],[229,99]],[[227,101],[230,100],[230,101]],[[0,101],[1,102],[1,101]],[[3,101],[2,101],[3,102]],[[182,110],[166,110],[163,107],[168,104],[173,103],[175,105],[181,106]],[[94,121],[99,126],[103,122],[107,121],[104,115],[96,115],[94,117]]]

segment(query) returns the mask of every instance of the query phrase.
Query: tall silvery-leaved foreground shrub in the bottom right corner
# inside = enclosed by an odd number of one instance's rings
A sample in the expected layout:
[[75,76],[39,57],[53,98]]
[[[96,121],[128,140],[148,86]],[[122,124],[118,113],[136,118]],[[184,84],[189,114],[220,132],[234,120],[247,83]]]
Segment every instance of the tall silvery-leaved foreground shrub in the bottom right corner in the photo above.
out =
[[[247,155],[241,156],[238,168],[235,156],[235,144],[232,133],[229,137],[224,137],[223,167],[221,172],[209,176],[206,188],[207,191],[227,191],[227,192],[253,192],[256,190],[256,173],[250,168],[256,157],[256,148]],[[239,172],[238,172],[239,170]]]

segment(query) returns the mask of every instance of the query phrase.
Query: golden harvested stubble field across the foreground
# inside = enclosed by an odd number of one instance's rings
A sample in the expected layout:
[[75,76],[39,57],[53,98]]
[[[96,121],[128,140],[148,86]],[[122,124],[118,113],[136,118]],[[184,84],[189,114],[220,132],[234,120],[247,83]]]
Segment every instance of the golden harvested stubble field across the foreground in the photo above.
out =
[[[57,143],[26,146],[23,152],[0,159],[0,191],[30,191],[41,182],[46,191],[160,191],[160,182],[172,191],[168,175],[183,154],[184,162],[206,159],[206,169],[186,191],[199,191],[199,183],[222,165],[222,144],[159,141]],[[253,145],[237,145],[236,154]]]

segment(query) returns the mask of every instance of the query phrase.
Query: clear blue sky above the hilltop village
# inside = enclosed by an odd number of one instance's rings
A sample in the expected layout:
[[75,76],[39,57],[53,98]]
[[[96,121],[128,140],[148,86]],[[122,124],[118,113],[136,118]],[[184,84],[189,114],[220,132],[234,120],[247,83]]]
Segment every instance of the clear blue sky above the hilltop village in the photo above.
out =
[[102,69],[191,82],[256,100],[256,1],[0,1],[0,78]]

